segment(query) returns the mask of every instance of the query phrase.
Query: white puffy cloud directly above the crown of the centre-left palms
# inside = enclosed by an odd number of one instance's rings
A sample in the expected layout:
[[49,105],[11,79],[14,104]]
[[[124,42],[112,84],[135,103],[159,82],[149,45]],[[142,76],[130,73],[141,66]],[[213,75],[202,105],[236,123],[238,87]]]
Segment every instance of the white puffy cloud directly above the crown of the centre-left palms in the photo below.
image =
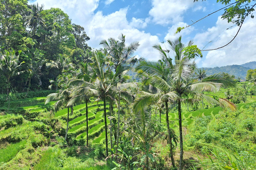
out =
[[103,15],[102,12],[97,12],[93,16],[90,27],[87,28],[88,35],[90,35],[91,38],[91,40],[88,41],[89,46],[100,48],[99,43],[101,40],[110,37],[117,39],[117,37],[123,33],[127,45],[134,41],[139,41],[140,46],[136,52],[137,55],[150,61],[157,61],[159,55],[152,46],[159,43],[158,37],[152,36],[150,33],[144,31],[139,31],[133,27],[134,22],[129,23],[127,21],[126,13],[127,8],[123,8],[109,15]]

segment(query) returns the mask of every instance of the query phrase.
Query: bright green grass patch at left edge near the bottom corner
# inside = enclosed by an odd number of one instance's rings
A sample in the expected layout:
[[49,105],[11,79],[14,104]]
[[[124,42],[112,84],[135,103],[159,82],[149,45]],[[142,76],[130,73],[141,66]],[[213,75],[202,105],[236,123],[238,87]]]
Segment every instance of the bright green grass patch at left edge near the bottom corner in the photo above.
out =
[[0,150],[0,163],[1,162],[9,162],[15,155],[18,154],[18,152],[25,148],[27,141],[22,140],[19,143],[14,143],[9,146],[7,146],[4,149]]

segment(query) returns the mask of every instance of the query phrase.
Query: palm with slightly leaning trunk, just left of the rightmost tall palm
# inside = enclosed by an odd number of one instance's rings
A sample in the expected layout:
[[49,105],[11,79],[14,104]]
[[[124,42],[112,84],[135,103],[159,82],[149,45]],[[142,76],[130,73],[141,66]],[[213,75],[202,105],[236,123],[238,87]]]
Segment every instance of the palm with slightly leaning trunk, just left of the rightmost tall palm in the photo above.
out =
[[[158,49],[161,49],[158,46]],[[163,52],[165,55],[165,52]],[[143,83],[145,85],[149,85],[156,88],[154,93],[150,92],[142,92],[142,96],[138,98],[134,103],[134,112],[138,112],[139,109],[142,109],[146,105],[151,104],[152,102],[157,102],[159,105],[165,105],[165,114],[166,114],[166,123],[167,123],[167,131],[168,131],[168,141],[170,144],[170,156],[172,160],[172,166],[175,167],[174,158],[173,158],[173,144],[172,144],[172,137],[173,134],[171,133],[172,130],[170,129],[169,125],[169,107],[168,103],[171,102],[176,98],[176,95],[171,91],[172,87],[170,86],[170,75],[172,67],[171,59],[167,58],[166,60],[159,60],[158,62],[146,62],[142,61],[136,67],[137,71],[140,71],[138,76],[145,76]],[[142,71],[142,72],[141,72]]]

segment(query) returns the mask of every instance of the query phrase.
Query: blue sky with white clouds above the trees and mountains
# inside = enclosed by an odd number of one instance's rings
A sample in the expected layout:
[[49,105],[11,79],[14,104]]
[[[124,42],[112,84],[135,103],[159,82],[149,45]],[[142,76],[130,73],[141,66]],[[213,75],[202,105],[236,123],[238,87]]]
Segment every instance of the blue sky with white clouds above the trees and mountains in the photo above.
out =
[[[193,39],[194,45],[200,49],[218,48],[233,39],[238,27],[221,19],[223,10],[175,34],[178,27],[186,27],[224,7],[216,2],[216,0],[30,1],[33,4],[43,4],[45,10],[51,7],[61,8],[69,15],[72,23],[84,27],[87,36],[90,37],[87,41],[90,47],[99,49],[102,47],[99,45],[101,40],[110,37],[118,39],[123,33],[126,45],[139,41],[140,46],[135,55],[149,61],[160,59],[157,50],[152,46],[160,44],[164,49],[170,49],[166,40],[173,41],[179,36],[182,36],[184,44]],[[172,57],[173,52],[169,52],[169,55]],[[196,58],[198,67],[241,65],[252,61],[256,61],[256,18],[251,19],[250,16],[247,17],[232,43],[218,50],[203,52],[203,58]]]

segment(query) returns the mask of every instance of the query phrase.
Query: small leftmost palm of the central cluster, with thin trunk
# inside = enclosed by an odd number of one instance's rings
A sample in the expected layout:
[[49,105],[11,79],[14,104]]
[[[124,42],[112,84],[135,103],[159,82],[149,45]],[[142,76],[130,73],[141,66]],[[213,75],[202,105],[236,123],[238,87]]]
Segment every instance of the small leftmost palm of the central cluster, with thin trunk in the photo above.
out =
[[55,111],[58,111],[62,106],[65,106],[68,108],[68,116],[67,116],[67,128],[66,128],[66,134],[65,134],[65,141],[67,141],[68,137],[68,123],[69,123],[69,108],[71,109],[70,114],[73,114],[73,105],[67,105],[68,101],[71,99],[71,92],[72,89],[68,86],[69,77],[63,77],[59,76],[58,78],[59,84],[61,84],[61,89],[53,94],[50,94],[45,99],[45,105],[49,103],[50,101],[57,102],[54,105]]

